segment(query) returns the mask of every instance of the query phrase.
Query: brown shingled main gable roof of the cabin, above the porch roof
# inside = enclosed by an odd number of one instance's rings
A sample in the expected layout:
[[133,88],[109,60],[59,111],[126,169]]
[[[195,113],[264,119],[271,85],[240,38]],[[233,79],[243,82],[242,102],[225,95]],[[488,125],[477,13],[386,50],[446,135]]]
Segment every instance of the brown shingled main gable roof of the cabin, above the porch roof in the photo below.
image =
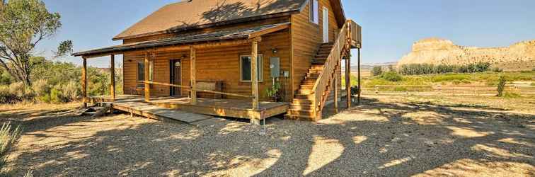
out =
[[[291,13],[299,13],[308,1],[183,0],[163,6],[158,11],[142,19],[142,21],[135,23],[127,30],[113,37],[113,40],[207,28],[221,23],[238,23],[284,16]],[[330,0],[330,2],[333,4],[337,21],[343,23],[345,16],[343,10],[341,10],[340,0]]]

